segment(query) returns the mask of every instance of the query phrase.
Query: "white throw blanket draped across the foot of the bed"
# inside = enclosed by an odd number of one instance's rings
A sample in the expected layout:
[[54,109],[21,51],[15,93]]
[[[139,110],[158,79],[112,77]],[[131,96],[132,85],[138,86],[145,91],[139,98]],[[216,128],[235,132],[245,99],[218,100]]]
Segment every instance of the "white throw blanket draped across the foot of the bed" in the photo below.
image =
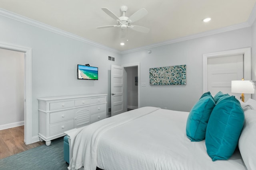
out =
[[104,132],[158,109],[160,108],[142,107],[86,126],[74,141],[71,169],[84,166],[84,170],[96,170],[98,140]]

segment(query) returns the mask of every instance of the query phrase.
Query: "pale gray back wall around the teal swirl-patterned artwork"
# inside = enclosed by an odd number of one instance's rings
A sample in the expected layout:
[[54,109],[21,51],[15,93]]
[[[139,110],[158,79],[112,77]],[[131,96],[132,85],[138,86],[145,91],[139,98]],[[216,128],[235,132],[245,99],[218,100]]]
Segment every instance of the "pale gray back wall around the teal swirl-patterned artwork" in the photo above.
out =
[[[122,64],[140,63],[140,106],[190,111],[203,92],[202,55],[251,47],[251,27],[122,55]],[[255,61],[255,60],[253,60]],[[150,86],[149,68],[186,64],[186,85]]]

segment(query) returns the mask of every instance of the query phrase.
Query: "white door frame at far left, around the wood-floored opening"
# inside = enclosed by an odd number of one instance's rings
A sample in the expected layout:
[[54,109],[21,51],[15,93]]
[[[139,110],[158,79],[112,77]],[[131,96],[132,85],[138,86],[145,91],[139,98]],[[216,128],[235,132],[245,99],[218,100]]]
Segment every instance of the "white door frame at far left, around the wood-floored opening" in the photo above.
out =
[[24,142],[32,141],[32,49],[0,42],[0,48],[20,51],[24,56]]

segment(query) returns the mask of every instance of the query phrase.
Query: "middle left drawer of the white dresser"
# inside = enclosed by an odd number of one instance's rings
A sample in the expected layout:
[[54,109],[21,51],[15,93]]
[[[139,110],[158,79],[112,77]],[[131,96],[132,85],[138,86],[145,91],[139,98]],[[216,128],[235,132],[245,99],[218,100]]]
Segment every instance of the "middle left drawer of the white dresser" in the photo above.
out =
[[74,109],[50,113],[50,123],[64,121],[66,119],[74,119]]

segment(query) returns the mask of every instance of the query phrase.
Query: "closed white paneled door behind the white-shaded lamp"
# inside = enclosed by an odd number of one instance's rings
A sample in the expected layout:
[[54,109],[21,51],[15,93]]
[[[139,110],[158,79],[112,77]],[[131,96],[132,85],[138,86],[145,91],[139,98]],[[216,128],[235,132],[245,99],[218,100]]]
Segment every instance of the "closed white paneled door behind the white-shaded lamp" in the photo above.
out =
[[[219,91],[236,96],[240,99],[241,94],[231,93],[231,81],[244,78],[243,55],[209,58],[207,61],[207,88],[214,96]],[[245,94],[246,95],[246,94]],[[245,96],[247,99],[250,97]]]

